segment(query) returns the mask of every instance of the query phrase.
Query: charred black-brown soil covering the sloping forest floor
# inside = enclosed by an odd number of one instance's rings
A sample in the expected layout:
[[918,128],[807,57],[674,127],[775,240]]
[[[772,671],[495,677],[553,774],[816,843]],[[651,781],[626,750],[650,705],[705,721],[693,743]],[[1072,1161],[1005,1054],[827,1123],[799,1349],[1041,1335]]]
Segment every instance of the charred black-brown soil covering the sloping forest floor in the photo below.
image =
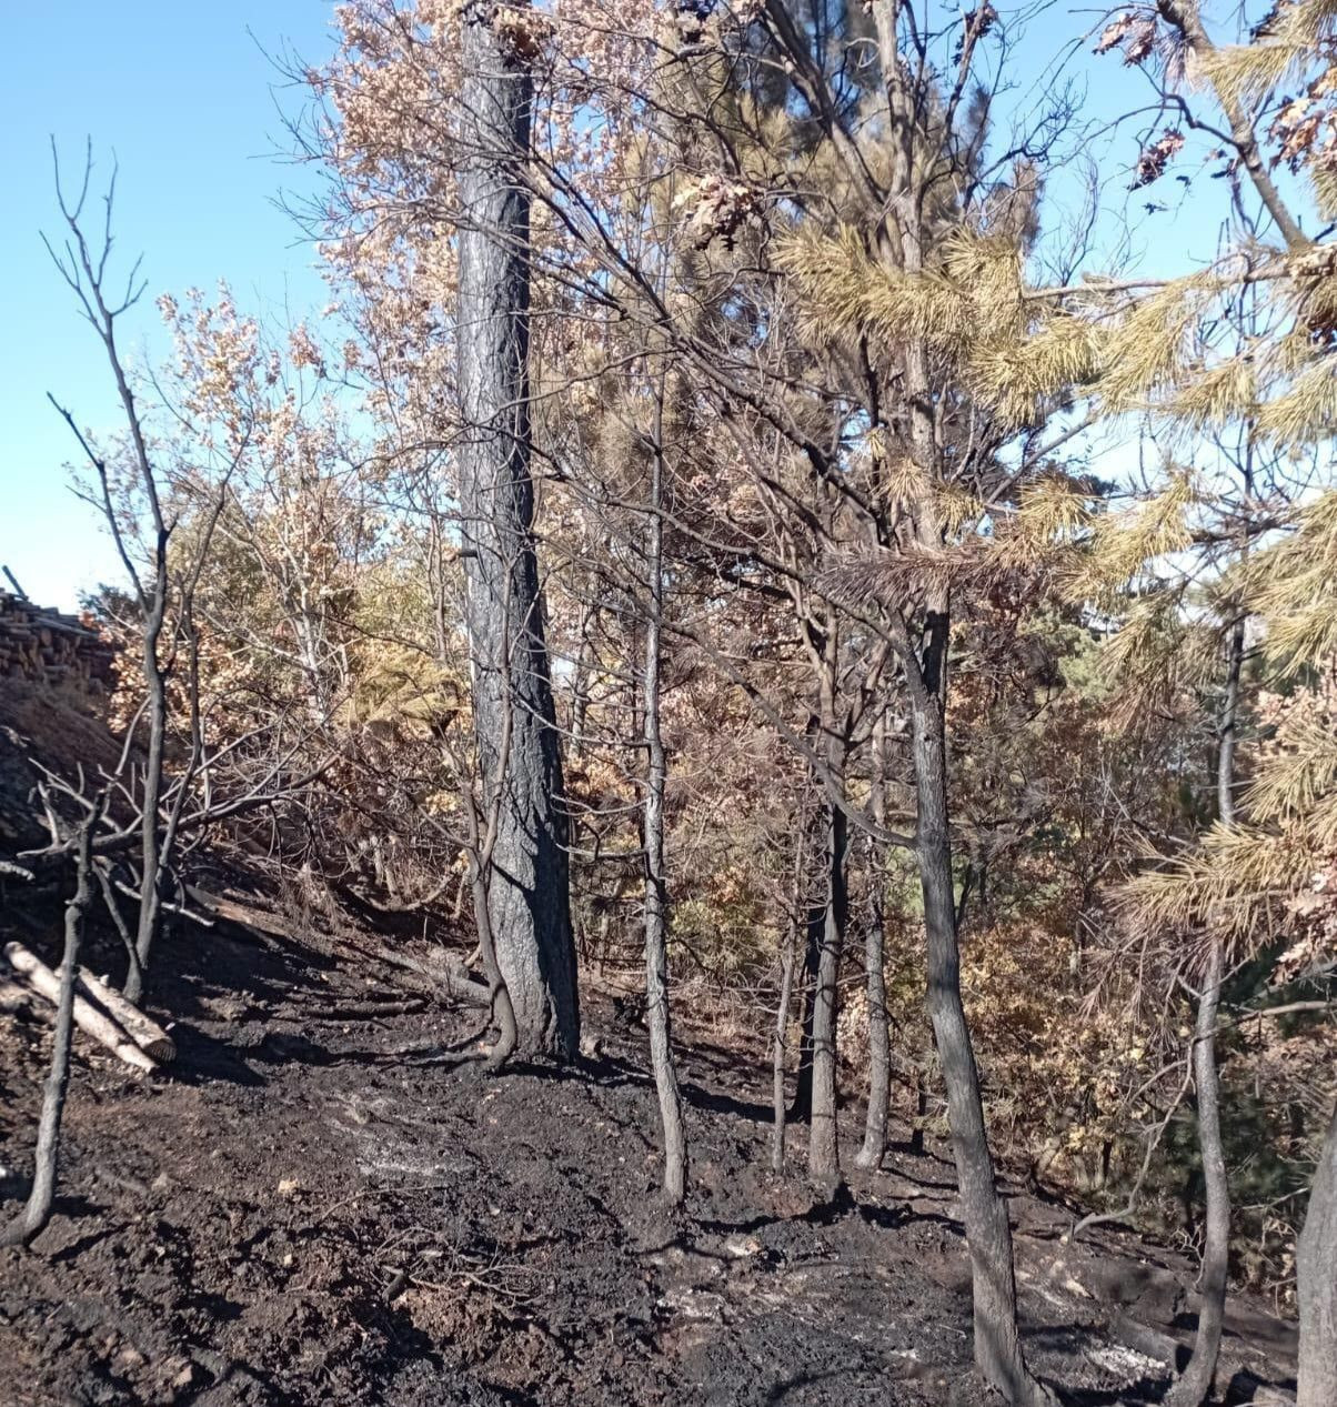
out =
[[[56,961],[21,902],[0,927]],[[607,992],[584,999],[580,1069],[487,1078],[433,1054],[479,1012],[405,957],[431,971],[439,951],[190,929],[149,1005],[177,1023],[169,1069],[76,1040],[56,1213],[0,1251],[3,1407],[989,1400],[946,1147],[895,1145],[874,1173],[849,1147],[832,1199],[795,1128],[774,1176],[764,1052],[683,1029],[692,1168],[670,1214],[645,1031]],[[49,1030],[0,1016],[6,1217]],[[857,1103],[843,1123],[853,1138]],[[1064,1251],[1075,1211],[1009,1190],[1034,1368],[1068,1403],[1157,1401],[1192,1338],[1192,1268],[1112,1227]],[[1223,1400],[1292,1377],[1291,1327],[1236,1303]]]

